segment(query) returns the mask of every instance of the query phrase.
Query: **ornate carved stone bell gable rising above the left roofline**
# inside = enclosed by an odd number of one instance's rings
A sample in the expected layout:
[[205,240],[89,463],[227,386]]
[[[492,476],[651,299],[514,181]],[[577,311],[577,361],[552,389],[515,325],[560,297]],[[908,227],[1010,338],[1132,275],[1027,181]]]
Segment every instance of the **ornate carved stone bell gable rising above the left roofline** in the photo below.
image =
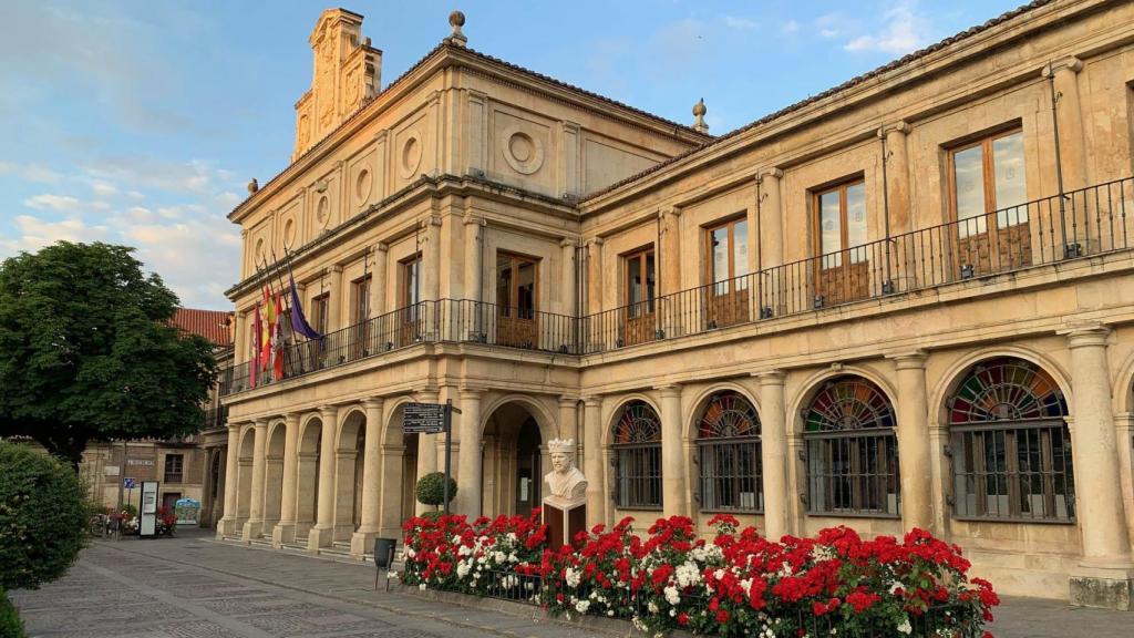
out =
[[311,89],[295,103],[295,150],[291,161],[335,131],[378,94],[382,52],[362,39],[362,16],[328,9],[311,37]]

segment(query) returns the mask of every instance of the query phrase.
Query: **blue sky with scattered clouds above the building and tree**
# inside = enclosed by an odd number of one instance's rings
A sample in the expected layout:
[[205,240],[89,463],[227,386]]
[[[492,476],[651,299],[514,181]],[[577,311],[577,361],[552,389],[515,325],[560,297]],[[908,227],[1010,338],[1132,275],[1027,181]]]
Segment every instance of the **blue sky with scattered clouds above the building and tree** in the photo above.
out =
[[[347,0],[383,86],[466,16],[468,45],[721,134],[1022,0]],[[0,1],[0,258],[57,240],[137,246],[223,309],[253,176],[288,161],[319,2]]]

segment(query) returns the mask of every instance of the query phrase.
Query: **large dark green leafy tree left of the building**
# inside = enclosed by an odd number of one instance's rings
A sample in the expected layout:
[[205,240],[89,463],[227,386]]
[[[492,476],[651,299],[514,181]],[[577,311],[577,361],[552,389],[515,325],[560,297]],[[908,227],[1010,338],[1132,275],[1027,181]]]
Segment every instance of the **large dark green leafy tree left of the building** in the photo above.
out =
[[201,429],[212,346],[171,326],[177,295],[133,251],[59,242],[0,263],[0,436],[77,464],[92,439]]

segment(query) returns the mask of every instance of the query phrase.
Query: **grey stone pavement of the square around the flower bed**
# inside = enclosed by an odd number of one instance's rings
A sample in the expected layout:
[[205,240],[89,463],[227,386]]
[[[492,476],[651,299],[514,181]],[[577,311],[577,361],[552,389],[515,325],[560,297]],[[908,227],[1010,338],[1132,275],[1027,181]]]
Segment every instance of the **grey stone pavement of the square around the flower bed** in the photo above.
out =
[[[603,636],[531,614],[501,614],[373,591],[372,564],[217,543],[200,534],[96,542],[70,573],[11,593],[43,638],[432,638]],[[1006,599],[998,638],[1132,638],[1134,612]],[[626,628],[628,629],[628,624]]]

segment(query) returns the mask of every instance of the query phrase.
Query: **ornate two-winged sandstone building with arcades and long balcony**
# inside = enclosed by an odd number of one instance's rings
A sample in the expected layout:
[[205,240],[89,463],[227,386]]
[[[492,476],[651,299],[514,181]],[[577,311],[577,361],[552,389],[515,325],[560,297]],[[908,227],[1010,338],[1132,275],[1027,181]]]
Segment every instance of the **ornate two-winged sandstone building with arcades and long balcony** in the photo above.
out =
[[[294,161],[230,215],[221,536],[397,536],[443,462],[401,406],[451,400],[459,512],[530,511],[573,438],[595,522],[922,527],[1128,606],[1134,5],[1036,1],[719,137],[451,22],[383,87],[324,11]],[[327,336],[252,387],[289,269]]]

